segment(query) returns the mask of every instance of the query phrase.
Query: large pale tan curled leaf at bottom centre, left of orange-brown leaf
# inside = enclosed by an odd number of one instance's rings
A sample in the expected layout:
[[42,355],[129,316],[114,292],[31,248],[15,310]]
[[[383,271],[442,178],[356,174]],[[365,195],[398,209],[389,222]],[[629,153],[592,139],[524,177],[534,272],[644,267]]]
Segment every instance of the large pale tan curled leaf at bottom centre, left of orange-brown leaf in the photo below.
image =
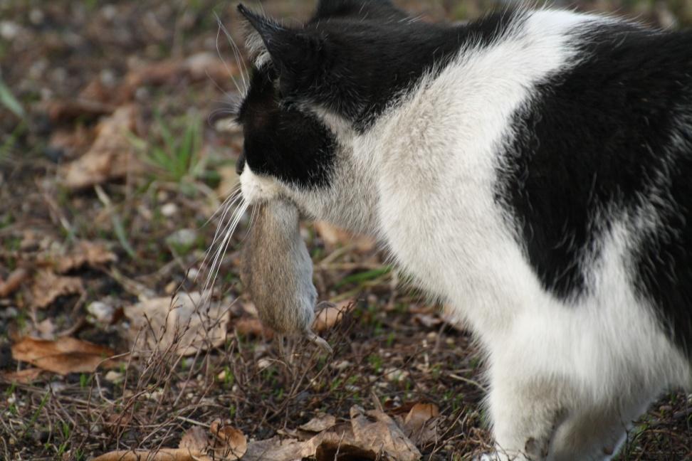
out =
[[396,461],[416,461],[421,457],[416,445],[407,438],[392,418],[382,411],[365,411],[360,406],[352,406],[351,428],[357,446],[364,450],[384,452]]

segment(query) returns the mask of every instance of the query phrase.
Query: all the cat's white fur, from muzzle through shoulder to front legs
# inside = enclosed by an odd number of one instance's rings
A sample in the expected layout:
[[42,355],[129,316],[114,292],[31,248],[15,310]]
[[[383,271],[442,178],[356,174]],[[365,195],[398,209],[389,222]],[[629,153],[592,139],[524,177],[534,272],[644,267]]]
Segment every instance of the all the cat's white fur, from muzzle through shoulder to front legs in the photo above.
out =
[[[691,386],[686,359],[632,289],[622,217],[584,270],[592,289],[562,302],[542,289],[494,197],[510,117],[535,85],[575,63],[575,26],[613,21],[537,11],[493,46],[467,48],[365,134],[315,112],[340,144],[330,191],[253,174],[243,196],[285,194],[310,215],[376,234],[421,287],[454,307],[488,354],[497,455],[609,459],[661,391]],[[560,136],[560,133],[555,133]],[[656,216],[641,210],[655,226]]]

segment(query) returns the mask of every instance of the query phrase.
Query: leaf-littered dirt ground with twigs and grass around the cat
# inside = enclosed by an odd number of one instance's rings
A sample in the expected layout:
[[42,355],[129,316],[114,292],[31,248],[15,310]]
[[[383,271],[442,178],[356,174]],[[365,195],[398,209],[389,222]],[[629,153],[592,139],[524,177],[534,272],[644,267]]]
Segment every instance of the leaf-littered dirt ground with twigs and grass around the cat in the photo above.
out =
[[[248,4],[289,21],[312,6]],[[153,453],[197,435],[208,455],[199,459],[235,459],[219,446],[243,443],[243,459],[258,460],[407,460],[416,450],[466,460],[488,449],[470,334],[371,241],[303,228],[320,300],[340,309],[318,326],[332,356],[302,341],[280,347],[254,317],[238,280],[249,216],[228,240],[214,238],[233,216],[224,201],[242,145],[225,122],[231,77],[243,85],[239,61],[217,25],[242,43],[236,5],[0,0],[0,459],[135,449],[173,459]],[[406,6],[457,21],[493,2]],[[690,0],[577,7],[692,23]],[[186,311],[199,292],[207,308]],[[352,431],[350,450],[329,439],[340,427]],[[401,430],[415,446],[377,452],[358,428]],[[286,455],[288,443],[301,455]],[[617,459],[692,459],[692,395],[654,403]]]

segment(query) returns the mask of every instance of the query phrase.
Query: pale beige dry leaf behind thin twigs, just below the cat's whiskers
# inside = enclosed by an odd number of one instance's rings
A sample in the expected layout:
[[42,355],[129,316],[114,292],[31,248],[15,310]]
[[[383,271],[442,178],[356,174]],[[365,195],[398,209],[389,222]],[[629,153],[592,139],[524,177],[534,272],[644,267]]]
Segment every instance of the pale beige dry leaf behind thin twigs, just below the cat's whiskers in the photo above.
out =
[[135,353],[174,348],[184,356],[224,344],[231,317],[220,302],[205,304],[199,292],[181,292],[174,300],[152,298],[125,307],[124,312],[132,323],[126,334]]

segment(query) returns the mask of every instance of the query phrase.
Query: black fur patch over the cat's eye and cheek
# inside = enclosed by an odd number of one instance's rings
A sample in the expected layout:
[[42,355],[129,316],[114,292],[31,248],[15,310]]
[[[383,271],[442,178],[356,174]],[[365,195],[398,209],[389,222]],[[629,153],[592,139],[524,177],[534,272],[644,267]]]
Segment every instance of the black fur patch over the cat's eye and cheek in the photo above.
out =
[[286,184],[313,189],[329,184],[335,139],[314,115],[279,101],[271,68],[253,70],[250,89],[238,113],[245,140],[238,172],[253,172]]

